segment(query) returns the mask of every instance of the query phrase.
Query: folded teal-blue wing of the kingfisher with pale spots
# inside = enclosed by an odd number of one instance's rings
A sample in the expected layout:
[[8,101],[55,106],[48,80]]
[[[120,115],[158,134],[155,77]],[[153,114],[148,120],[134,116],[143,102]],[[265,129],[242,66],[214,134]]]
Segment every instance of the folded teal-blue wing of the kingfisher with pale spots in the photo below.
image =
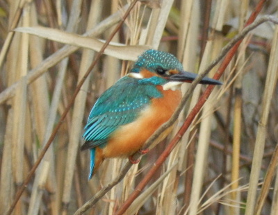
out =
[[81,150],[105,146],[110,135],[118,127],[134,121],[151,98],[160,98],[162,94],[154,84],[156,79],[142,81],[125,76],[107,89],[92,107]]

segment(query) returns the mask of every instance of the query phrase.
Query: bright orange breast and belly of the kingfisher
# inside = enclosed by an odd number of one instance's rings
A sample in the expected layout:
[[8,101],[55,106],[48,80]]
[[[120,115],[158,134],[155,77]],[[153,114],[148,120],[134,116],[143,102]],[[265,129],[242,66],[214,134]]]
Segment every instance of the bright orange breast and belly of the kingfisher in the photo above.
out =
[[[103,149],[104,157],[127,157],[139,150],[147,139],[166,121],[172,117],[181,101],[181,91],[171,89],[163,91],[162,98],[152,99],[151,105],[142,110],[138,119],[122,126],[108,141]],[[170,129],[167,129],[167,134]],[[165,135],[163,136],[165,137]]]

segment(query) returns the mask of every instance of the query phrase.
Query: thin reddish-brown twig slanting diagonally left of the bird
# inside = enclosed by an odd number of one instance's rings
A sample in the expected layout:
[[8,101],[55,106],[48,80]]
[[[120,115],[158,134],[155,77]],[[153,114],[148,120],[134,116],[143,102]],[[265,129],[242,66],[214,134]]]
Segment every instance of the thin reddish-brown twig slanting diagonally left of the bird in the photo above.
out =
[[108,40],[106,40],[105,44],[102,46],[102,48],[99,51],[99,53],[97,53],[97,55],[95,57],[95,60],[92,62],[92,64],[88,68],[87,72],[85,73],[85,75],[83,76],[83,78],[81,79],[79,84],[76,86],[76,90],[75,90],[75,92],[74,92],[74,94],[72,96],[72,99],[69,102],[69,105],[67,105],[67,107],[65,108],[65,111],[63,112],[62,116],[60,117],[60,120],[58,121],[57,126],[54,128],[51,136],[49,137],[49,140],[47,141],[47,144],[45,144],[44,148],[42,148],[42,151],[41,151],[40,155],[38,156],[38,160],[35,162],[35,164],[33,165],[32,169],[31,169],[31,171],[28,173],[26,179],[24,180],[24,182],[22,184],[22,187],[20,187],[19,191],[17,191],[15,200],[13,201],[13,204],[10,206],[10,209],[6,213],[7,215],[12,214],[13,209],[15,209],[15,205],[17,205],[17,202],[18,202],[19,198],[22,196],[22,193],[24,192],[28,182],[31,180],[33,174],[35,173],[35,170],[38,168],[38,165],[42,161],[42,158],[44,157],[45,153],[47,153],[47,149],[49,148],[49,146],[51,145],[52,141],[56,137],[56,134],[57,134],[60,126],[62,126],[63,121],[64,121],[65,117],[67,116],[67,113],[70,111],[70,108],[74,104],[74,100],[75,100],[77,94],[79,93],[79,90],[81,89],[83,83],[85,82],[86,78],[89,76],[90,72],[95,67],[95,65],[97,65],[97,62],[99,61],[99,58],[104,53],[104,49],[106,49],[106,47],[108,46],[109,42],[111,42],[111,40],[114,37],[114,35],[117,33],[117,31],[119,31],[119,29],[122,26],[122,24],[124,24],[124,20],[126,19],[126,17],[128,17],[129,13],[131,12],[132,8],[135,6],[137,1],[138,0],[134,0],[131,3],[129,8],[126,10],[126,13],[122,17],[121,22],[119,24],[117,24],[117,27],[115,28],[113,33],[111,33],[110,37],[108,37]]

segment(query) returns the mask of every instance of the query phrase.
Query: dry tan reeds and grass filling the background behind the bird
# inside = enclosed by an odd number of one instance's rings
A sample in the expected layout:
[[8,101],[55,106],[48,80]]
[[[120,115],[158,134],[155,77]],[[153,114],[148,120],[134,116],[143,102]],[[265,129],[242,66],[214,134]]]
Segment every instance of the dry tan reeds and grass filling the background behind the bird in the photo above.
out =
[[[88,181],[89,155],[80,146],[90,109],[143,50],[173,53],[187,71],[202,72],[251,12],[277,17],[278,10],[275,0],[138,1],[115,27],[131,2],[0,0],[0,214],[278,214],[278,27],[271,22],[245,35],[226,69],[219,62],[211,70],[208,76],[225,69],[223,85],[184,135],[179,128],[205,90],[200,85],[172,136],[140,164],[107,160]],[[167,147],[178,131],[181,141]],[[84,207],[125,164],[123,180]]]

